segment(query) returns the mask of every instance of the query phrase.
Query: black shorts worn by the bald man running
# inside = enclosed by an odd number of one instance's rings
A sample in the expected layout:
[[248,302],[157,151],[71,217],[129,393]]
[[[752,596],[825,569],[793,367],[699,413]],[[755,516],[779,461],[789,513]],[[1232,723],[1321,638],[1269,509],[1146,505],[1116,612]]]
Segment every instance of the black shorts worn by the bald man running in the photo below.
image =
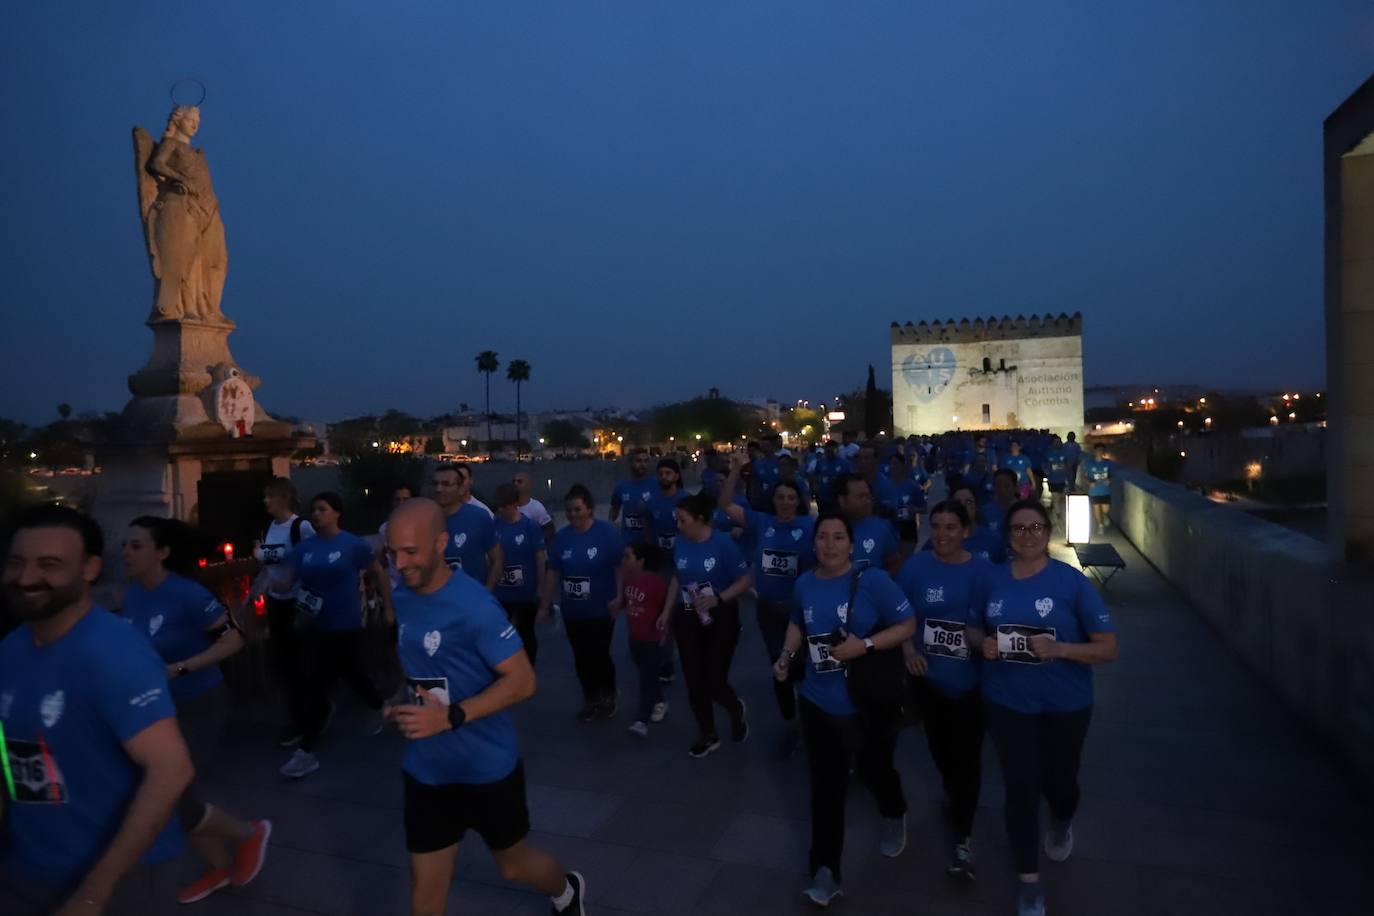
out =
[[495,783],[430,786],[405,776],[405,851],[436,853],[477,831],[492,851],[510,849],[529,834],[525,764]]

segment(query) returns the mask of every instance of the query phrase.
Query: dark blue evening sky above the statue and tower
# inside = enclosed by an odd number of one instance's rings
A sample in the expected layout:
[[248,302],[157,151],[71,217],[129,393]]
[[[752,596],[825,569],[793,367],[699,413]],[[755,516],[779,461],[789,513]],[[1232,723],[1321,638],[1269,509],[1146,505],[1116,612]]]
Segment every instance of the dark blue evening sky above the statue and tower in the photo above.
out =
[[892,320],[1047,310],[1090,383],[1325,378],[1320,124],[1367,1],[18,5],[0,416],[128,398],[129,128],[183,74],[276,412],[475,404],[486,347],[534,408],[819,398]]

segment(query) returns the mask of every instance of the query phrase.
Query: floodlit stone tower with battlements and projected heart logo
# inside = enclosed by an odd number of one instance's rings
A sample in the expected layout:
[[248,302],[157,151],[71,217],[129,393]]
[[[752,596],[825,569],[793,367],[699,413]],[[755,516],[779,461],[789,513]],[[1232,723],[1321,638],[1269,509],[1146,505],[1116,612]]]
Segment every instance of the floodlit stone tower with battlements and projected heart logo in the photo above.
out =
[[1083,431],[1083,316],[892,324],[897,435]]

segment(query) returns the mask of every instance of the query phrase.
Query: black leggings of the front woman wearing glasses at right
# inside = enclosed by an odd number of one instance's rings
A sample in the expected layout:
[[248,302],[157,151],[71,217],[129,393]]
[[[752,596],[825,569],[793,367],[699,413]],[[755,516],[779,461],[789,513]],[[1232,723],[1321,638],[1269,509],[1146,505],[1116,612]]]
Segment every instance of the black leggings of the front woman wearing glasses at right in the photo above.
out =
[[1072,713],[1017,713],[985,703],[988,732],[1007,786],[1007,840],[1017,872],[1040,871],[1040,797],[1058,821],[1079,810],[1079,759],[1092,707]]

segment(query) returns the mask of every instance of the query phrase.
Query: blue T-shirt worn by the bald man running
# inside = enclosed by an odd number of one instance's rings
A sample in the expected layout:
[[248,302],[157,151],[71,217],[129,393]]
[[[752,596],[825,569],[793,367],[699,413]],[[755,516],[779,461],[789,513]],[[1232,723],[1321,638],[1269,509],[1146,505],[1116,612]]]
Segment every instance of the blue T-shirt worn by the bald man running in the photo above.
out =
[[[455,573],[431,595],[403,586],[392,600],[408,703],[419,702],[416,687],[447,705],[477,696],[497,678],[496,666],[525,648],[496,597],[471,577]],[[510,776],[518,759],[515,725],[503,710],[405,742],[401,769],[427,786],[484,784]]]

